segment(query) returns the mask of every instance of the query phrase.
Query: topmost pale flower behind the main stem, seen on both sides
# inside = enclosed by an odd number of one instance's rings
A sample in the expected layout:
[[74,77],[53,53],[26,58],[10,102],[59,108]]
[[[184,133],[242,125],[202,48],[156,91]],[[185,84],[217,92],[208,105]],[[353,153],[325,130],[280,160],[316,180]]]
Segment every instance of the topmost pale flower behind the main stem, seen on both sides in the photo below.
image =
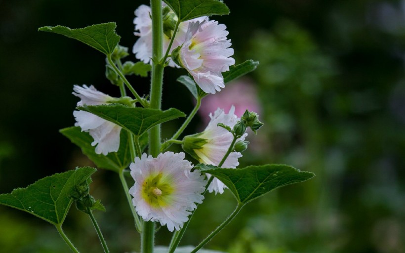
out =
[[[165,4],[162,2],[163,8],[168,8],[164,11],[163,17],[163,51],[167,50],[169,46],[171,35],[174,30],[174,25],[177,22],[176,14]],[[144,63],[151,63],[152,58],[152,19],[151,19],[151,7],[147,5],[140,5],[135,10],[135,18],[133,23],[135,25],[135,30],[139,32],[134,32],[135,36],[139,36],[140,38],[135,42],[132,52],[135,54],[135,57]],[[188,29],[188,25],[192,21],[202,21],[204,17],[195,18],[192,20],[181,22],[176,37],[174,38],[173,44],[170,48],[169,53],[180,46],[186,39],[186,33]],[[170,67],[179,68],[179,66],[173,62],[173,60],[169,60],[168,65]]]

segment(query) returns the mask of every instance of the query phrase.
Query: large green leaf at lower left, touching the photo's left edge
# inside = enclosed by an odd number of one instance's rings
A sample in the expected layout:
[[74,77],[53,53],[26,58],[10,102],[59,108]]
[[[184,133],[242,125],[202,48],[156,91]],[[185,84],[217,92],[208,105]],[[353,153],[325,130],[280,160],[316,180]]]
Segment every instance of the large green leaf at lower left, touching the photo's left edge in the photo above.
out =
[[44,177],[26,188],[0,195],[0,204],[31,213],[53,225],[61,225],[72,204],[75,187],[83,183],[96,169],[90,167],[69,170]]

